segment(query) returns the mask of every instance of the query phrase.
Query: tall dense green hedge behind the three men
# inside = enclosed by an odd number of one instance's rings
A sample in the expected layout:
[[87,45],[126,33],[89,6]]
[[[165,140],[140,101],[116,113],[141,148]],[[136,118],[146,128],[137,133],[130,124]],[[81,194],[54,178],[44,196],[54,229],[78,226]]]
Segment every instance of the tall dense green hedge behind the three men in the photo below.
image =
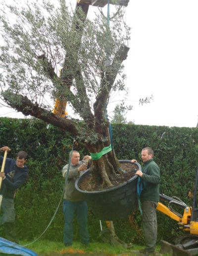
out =
[[[135,158],[142,164],[142,148],[152,147],[154,160],[161,171],[160,192],[177,196],[192,205],[198,163],[197,128],[113,124],[112,133],[118,159]],[[0,118],[0,146],[11,148],[8,157],[15,158],[19,150],[29,155],[29,178],[15,198],[16,228],[20,239],[36,239],[48,226],[61,198],[64,185],[61,170],[68,163],[72,143],[73,137],[69,133],[41,121]],[[80,142],[75,143],[74,149],[81,155],[89,154]],[[181,233],[177,222],[160,212],[157,215],[158,240],[172,242]],[[43,238],[61,241],[63,224],[61,202]],[[106,227],[105,222],[102,222],[102,226]],[[114,227],[118,237],[125,242],[144,242],[139,210],[128,218],[115,221]],[[93,240],[99,239],[99,232],[99,219],[89,210],[90,237]],[[79,239],[76,221],[74,239]]]

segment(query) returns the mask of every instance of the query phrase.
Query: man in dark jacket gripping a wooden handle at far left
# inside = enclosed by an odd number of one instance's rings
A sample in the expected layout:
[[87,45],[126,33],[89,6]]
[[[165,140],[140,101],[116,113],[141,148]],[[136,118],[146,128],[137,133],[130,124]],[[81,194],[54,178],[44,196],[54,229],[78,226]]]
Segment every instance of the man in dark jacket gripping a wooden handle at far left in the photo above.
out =
[[[10,151],[9,147],[1,147],[0,150]],[[28,178],[28,168],[25,164],[27,161],[27,153],[20,151],[16,160],[6,158],[4,171],[0,172],[2,179],[0,188],[0,208],[3,215],[0,217],[0,225],[4,225],[6,239],[18,243],[14,230],[15,211],[14,196],[16,190]],[[2,165],[3,157],[0,156],[0,165]]]

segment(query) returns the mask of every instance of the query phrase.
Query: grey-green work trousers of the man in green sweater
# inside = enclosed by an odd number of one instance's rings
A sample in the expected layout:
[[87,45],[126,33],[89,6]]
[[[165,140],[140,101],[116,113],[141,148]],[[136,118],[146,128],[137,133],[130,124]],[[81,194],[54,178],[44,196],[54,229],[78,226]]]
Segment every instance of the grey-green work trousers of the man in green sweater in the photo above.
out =
[[158,202],[142,202],[143,228],[145,232],[145,251],[152,253],[157,241],[157,216],[156,207]]

